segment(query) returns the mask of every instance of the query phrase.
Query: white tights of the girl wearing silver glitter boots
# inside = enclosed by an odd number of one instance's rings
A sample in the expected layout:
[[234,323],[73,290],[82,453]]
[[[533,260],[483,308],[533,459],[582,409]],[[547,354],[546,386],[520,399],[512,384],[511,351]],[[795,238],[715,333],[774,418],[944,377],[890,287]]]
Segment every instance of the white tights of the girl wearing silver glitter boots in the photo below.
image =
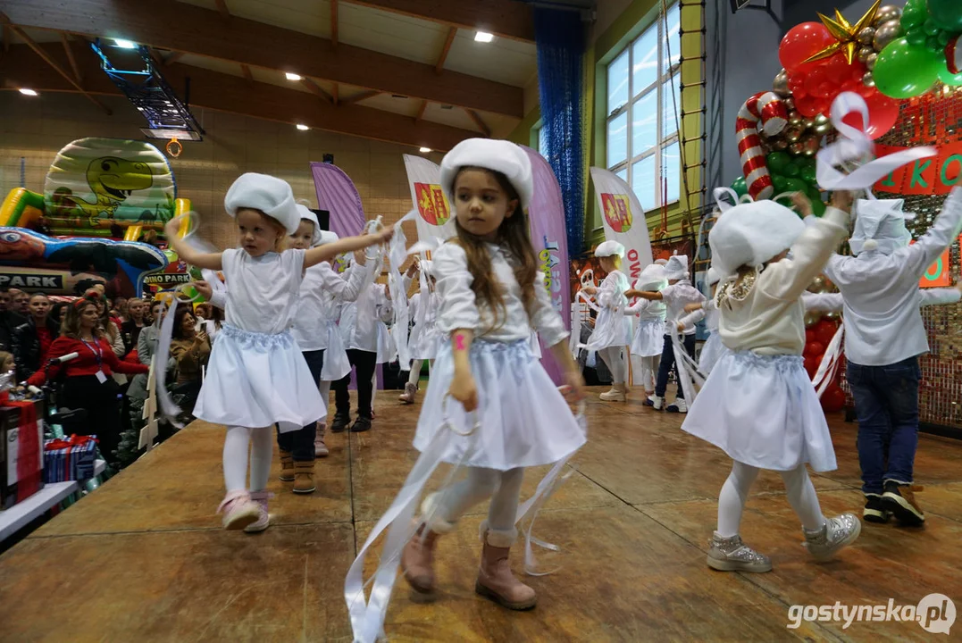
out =
[[[800,464],[793,471],[778,473],[781,474],[782,482],[785,482],[788,502],[801,520],[801,526],[809,531],[821,529],[825,518],[805,465]],[[751,484],[757,477],[758,469],[755,467],[742,462],[732,463],[731,474],[722,484],[722,493],[719,494],[719,535],[722,538],[738,535],[742,523],[742,509],[745,508]]]

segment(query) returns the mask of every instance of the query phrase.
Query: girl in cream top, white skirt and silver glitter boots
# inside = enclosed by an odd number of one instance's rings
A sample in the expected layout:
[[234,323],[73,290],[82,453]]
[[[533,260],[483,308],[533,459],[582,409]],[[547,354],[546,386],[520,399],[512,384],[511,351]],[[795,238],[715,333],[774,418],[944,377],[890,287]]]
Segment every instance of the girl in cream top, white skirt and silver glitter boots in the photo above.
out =
[[[682,429],[734,460],[719,495],[718,530],[708,565],[722,571],[767,572],[768,556],[742,542],[739,527],[759,469],[778,471],[801,520],[805,545],[825,559],[858,537],[852,513],[826,520],[805,464],[835,469],[825,416],[802,367],[801,294],[848,234],[848,193],[836,192],[815,224],[773,201],[726,210],[708,236],[722,282],[716,303],[728,352],[712,370]],[[791,250],[792,257],[788,258]]]

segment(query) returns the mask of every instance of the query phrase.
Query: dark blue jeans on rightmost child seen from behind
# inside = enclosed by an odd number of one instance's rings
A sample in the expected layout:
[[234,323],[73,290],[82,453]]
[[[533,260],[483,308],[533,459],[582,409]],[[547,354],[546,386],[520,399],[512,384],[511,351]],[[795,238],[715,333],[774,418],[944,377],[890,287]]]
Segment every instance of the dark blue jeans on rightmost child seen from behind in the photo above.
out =
[[862,491],[881,494],[884,482],[912,482],[919,445],[919,359],[887,366],[848,362],[848,385],[858,417]]

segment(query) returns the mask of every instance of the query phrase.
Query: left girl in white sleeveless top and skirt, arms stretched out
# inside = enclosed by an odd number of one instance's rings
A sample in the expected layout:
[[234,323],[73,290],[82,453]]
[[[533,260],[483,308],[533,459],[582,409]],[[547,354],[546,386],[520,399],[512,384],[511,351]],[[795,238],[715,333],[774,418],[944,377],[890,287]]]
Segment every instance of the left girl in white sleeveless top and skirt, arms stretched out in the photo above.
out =
[[227,495],[218,507],[224,512],[224,529],[264,531],[269,525],[266,483],[274,424],[280,424],[282,432],[297,431],[325,412],[316,380],[290,331],[304,270],[342,252],[383,243],[393,231],[279,252],[285,237],[300,225],[300,215],[291,185],[264,174],[241,175],[227,190],[224,207],[237,221],[240,248],[197,252],[177,235],[181,217],[169,221],[165,232],[181,260],[222,270],[229,287],[226,320],[193,414],[227,426]]

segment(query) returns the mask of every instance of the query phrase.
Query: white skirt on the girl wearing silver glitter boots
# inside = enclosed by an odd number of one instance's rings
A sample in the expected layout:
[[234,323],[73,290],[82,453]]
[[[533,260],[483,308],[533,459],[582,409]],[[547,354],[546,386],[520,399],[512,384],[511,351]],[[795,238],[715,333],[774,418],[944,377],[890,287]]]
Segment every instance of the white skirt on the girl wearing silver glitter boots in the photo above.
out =
[[815,471],[837,466],[800,356],[723,353],[681,428],[760,469],[791,471],[806,462]]

